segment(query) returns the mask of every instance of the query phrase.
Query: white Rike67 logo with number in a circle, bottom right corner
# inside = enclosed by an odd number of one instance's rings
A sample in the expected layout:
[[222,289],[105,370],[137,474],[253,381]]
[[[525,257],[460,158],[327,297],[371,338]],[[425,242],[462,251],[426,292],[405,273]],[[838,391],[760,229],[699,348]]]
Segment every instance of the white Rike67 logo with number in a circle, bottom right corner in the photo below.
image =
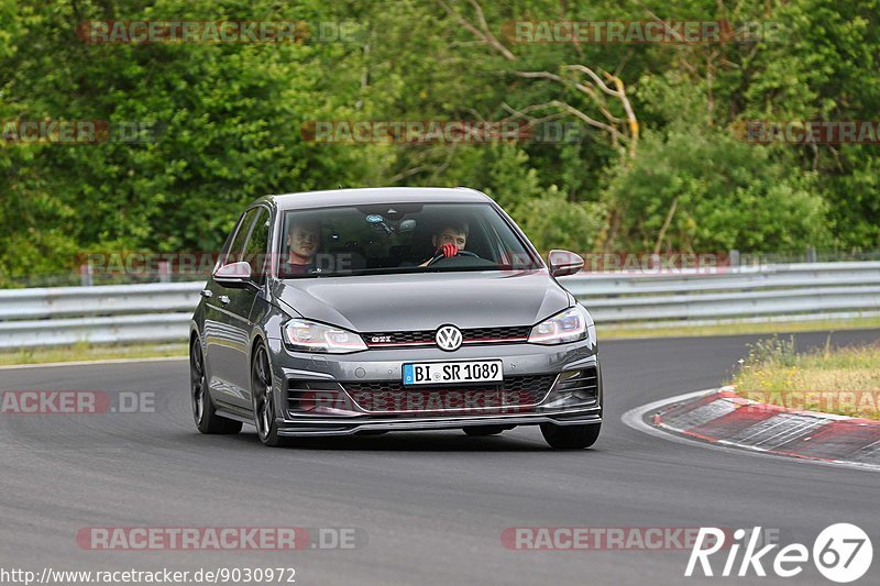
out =
[[[792,543],[772,555],[770,552],[779,544],[771,543],[758,549],[760,534],[760,527],[750,531],[737,529],[733,534],[733,543],[726,543],[725,538],[729,535],[729,531],[714,527],[700,528],[684,575],[698,576],[700,571],[704,576],[716,575],[718,567],[716,565],[713,568],[710,557],[722,550],[727,554],[719,574],[724,577],[767,576],[765,564],[771,567],[777,576],[783,578],[794,577],[803,572],[811,554],[806,545]],[[744,550],[743,557],[737,560],[740,550]],[[859,527],[835,523],[825,528],[813,542],[812,556],[813,564],[823,576],[832,582],[845,584],[859,579],[868,572],[873,559],[873,548],[868,534]]]

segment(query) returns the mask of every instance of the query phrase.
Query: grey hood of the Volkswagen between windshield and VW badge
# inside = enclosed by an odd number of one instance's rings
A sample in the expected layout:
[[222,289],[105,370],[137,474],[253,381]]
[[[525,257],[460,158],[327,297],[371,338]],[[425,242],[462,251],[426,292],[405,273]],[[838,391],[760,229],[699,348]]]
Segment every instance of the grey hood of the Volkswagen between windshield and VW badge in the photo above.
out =
[[274,294],[304,318],[355,332],[532,325],[569,307],[546,269],[287,279]]

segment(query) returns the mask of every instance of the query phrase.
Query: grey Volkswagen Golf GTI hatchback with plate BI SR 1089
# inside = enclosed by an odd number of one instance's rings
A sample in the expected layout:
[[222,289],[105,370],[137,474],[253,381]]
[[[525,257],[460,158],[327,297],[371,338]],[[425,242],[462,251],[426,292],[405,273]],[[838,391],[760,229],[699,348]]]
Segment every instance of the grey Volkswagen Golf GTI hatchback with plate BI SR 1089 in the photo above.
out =
[[202,433],[304,435],[540,425],[592,445],[595,327],[491,198],[464,188],[267,196],[227,240],[190,321]]

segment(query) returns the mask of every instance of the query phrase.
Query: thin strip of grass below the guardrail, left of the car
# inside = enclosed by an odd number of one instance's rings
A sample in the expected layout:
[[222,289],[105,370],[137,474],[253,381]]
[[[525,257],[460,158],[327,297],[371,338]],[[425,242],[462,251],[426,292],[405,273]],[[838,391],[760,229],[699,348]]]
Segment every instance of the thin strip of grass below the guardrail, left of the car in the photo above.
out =
[[186,357],[186,344],[89,344],[0,352],[0,365],[125,358]]

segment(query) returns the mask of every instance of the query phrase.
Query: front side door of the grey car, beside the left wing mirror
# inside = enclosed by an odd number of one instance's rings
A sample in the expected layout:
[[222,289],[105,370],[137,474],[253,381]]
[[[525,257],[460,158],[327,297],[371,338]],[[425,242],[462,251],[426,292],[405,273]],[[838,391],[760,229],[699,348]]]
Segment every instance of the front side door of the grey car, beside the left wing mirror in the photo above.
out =
[[[242,214],[217,268],[242,259],[248,237],[262,210],[264,208],[256,207]],[[219,402],[250,409],[250,383],[244,382],[250,378],[249,318],[254,288],[224,287],[211,276],[204,295],[206,358],[212,396]]]

